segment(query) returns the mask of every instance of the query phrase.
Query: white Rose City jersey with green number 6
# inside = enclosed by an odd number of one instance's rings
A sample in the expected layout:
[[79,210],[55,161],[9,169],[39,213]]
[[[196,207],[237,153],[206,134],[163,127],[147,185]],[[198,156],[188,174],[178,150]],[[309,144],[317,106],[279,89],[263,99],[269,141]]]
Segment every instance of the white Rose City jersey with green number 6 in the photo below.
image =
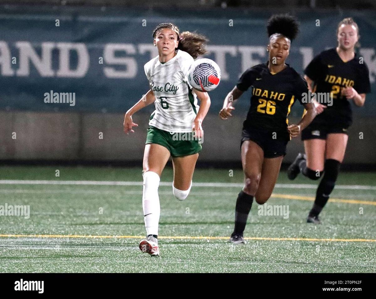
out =
[[193,62],[190,54],[177,50],[163,64],[159,56],[145,64],[145,74],[155,95],[155,111],[149,125],[171,133],[192,131],[199,110],[196,94],[188,83],[188,68]]

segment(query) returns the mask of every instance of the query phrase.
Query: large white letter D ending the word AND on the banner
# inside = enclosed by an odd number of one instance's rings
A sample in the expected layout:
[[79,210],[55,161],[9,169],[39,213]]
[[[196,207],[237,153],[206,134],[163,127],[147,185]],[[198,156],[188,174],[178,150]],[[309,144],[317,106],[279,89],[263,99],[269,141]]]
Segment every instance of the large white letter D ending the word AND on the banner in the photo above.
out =
[[[57,77],[81,78],[85,77],[90,65],[90,56],[85,44],[73,42],[58,42],[59,49],[59,69]],[[78,63],[76,69],[70,69],[70,51],[77,52]]]

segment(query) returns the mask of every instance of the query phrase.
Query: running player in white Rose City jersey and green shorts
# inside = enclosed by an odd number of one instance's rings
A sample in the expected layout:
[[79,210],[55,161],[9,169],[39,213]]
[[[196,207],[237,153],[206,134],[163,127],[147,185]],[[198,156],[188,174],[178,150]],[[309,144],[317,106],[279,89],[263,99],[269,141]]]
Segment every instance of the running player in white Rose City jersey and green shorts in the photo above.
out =
[[132,127],[137,127],[137,124],[132,121],[132,115],[154,103],[143,161],[143,210],[147,237],[141,240],[139,248],[156,256],[159,255],[158,186],[161,173],[171,156],[173,194],[184,200],[191,190],[193,171],[202,148],[201,125],[209,110],[210,98],[206,92],[193,90],[187,78],[194,58],[206,53],[203,44],[207,39],[197,33],[179,34],[179,29],[171,23],[159,24],[153,38],[158,56],[144,66],[150,90],[125,114],[124,132],[134,133]]

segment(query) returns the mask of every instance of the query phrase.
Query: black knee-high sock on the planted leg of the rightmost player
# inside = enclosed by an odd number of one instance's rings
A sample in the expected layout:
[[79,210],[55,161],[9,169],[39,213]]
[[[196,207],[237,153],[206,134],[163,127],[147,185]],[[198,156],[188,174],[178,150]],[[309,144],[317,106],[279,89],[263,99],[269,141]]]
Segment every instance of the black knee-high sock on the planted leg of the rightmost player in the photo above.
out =
[[337,181],[338,172],[340,171],[341,162],[334,159],[327,159],[324,166],[324,176],[318,185],[316,191],[315,203],[309,212],[310,216],[317,216],[325,206],[332,193],[335,182]]

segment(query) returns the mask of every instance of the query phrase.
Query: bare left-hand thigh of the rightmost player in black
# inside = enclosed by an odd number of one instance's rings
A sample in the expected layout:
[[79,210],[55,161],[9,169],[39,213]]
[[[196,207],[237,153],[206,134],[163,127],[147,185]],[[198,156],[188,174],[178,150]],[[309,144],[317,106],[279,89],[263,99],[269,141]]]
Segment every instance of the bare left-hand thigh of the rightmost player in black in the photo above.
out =
[[325,145],[325,139],[304,140],[304,150],[307,155],[307,167],[309,169],[324,170]]

